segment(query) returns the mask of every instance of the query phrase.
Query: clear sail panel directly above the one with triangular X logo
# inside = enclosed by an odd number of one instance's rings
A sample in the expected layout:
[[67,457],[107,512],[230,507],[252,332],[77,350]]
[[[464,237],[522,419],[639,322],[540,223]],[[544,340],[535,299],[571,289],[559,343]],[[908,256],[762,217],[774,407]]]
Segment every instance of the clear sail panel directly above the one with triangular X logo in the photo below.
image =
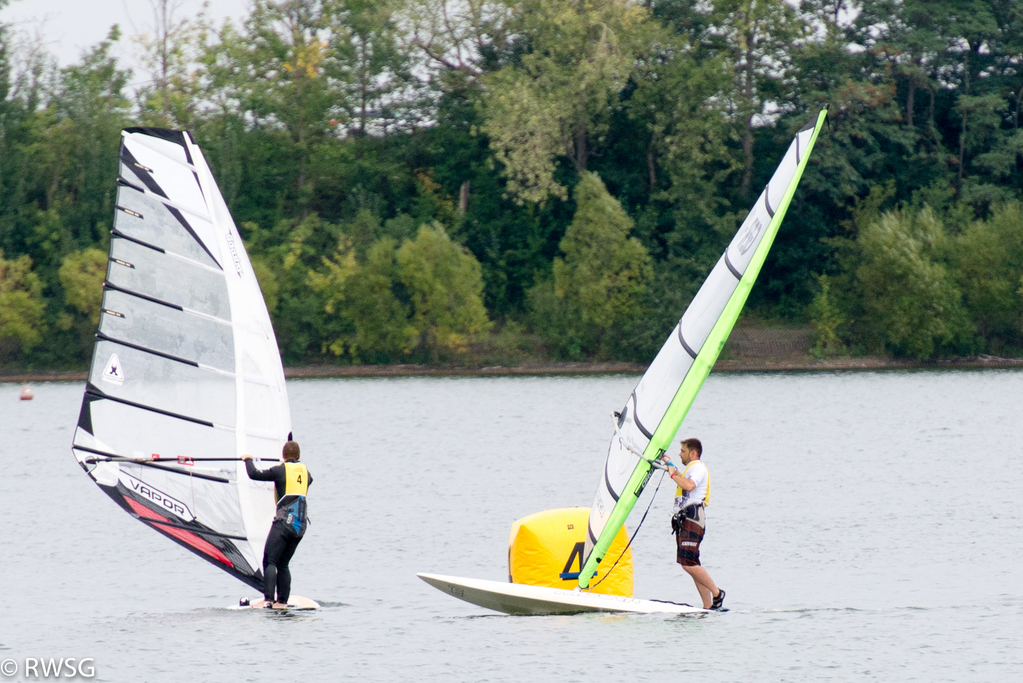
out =
[[106,336],[234,372],[234,335],[230,325],[117,289],[106,290],[103,309],[120,314],[100,316],[99,331]]

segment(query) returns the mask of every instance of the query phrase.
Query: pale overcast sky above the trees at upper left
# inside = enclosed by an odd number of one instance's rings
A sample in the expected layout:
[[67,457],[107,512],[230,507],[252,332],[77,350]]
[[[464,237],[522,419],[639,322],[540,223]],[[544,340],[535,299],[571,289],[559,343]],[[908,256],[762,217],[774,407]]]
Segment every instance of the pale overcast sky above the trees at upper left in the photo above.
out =
[[[203,6],[203,0],[179,2],[175,17],[192,17]],[[248,15],[249,4],[250,0],[211,0],[209,13],[218,25],[226,17],[238,22]],[[151,31],[149,0],[11,0],[0,10],[0,21],[23,35],[39,36],[61,66],[78,61],[84,50],[105,38],[117,24],[122,38],[115,53],[123,64],[135,69],[133,81],[147,80],[138,70],[130,37]]]

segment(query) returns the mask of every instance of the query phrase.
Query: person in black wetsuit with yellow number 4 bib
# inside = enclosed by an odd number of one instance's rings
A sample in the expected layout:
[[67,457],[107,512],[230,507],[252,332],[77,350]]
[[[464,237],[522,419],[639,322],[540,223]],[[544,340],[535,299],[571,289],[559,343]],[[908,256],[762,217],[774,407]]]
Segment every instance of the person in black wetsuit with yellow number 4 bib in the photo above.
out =
[[[292,595],[292,572],[287,563],[292,561],[295,549],[306,533],[309,517],[306,514],[306,491],[313,483],[312,474],[299,462],[299,445],[290,441],[284,444],[284,462],[269,469],[258,469],[253,456],[242,455],[249,479],[273,482],[276,487],[277,513],[270,526],[263,548],[263,598],[265,607],[287,606]],[[276,590],[276,601],[274,601]]]

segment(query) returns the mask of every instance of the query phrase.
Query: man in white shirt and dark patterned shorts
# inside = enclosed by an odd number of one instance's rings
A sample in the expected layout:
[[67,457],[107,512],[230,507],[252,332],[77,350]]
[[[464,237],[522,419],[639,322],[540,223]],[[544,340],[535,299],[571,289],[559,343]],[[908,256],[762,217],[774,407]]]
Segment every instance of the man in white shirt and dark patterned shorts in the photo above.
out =
[[724,591],[714,584],[707,570],[700,564],[700,542],[707,528],[704,508],[710,502],[710,472],[707,465],[700,461],[703,445],[699,439],[686,439],[678,455],[685,468],[668,465],[668,475],[678,487],[671,515],[671,530],[675,533],[678,547],[676,561],[693,577],[704,609],[720,609],[724,603]]

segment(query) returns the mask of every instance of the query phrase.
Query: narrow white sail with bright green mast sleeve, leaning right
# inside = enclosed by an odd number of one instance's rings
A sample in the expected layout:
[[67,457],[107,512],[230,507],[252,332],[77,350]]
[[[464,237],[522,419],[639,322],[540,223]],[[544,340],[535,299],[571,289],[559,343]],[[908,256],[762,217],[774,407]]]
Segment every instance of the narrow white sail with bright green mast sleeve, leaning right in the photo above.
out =
[[650,479],[651,461],[668,449],[714,367],[767,258],[826,118],[825,109],[796,134],[731,243],[618,414],[590,508],[580,588],[589,586],[596,565]]

